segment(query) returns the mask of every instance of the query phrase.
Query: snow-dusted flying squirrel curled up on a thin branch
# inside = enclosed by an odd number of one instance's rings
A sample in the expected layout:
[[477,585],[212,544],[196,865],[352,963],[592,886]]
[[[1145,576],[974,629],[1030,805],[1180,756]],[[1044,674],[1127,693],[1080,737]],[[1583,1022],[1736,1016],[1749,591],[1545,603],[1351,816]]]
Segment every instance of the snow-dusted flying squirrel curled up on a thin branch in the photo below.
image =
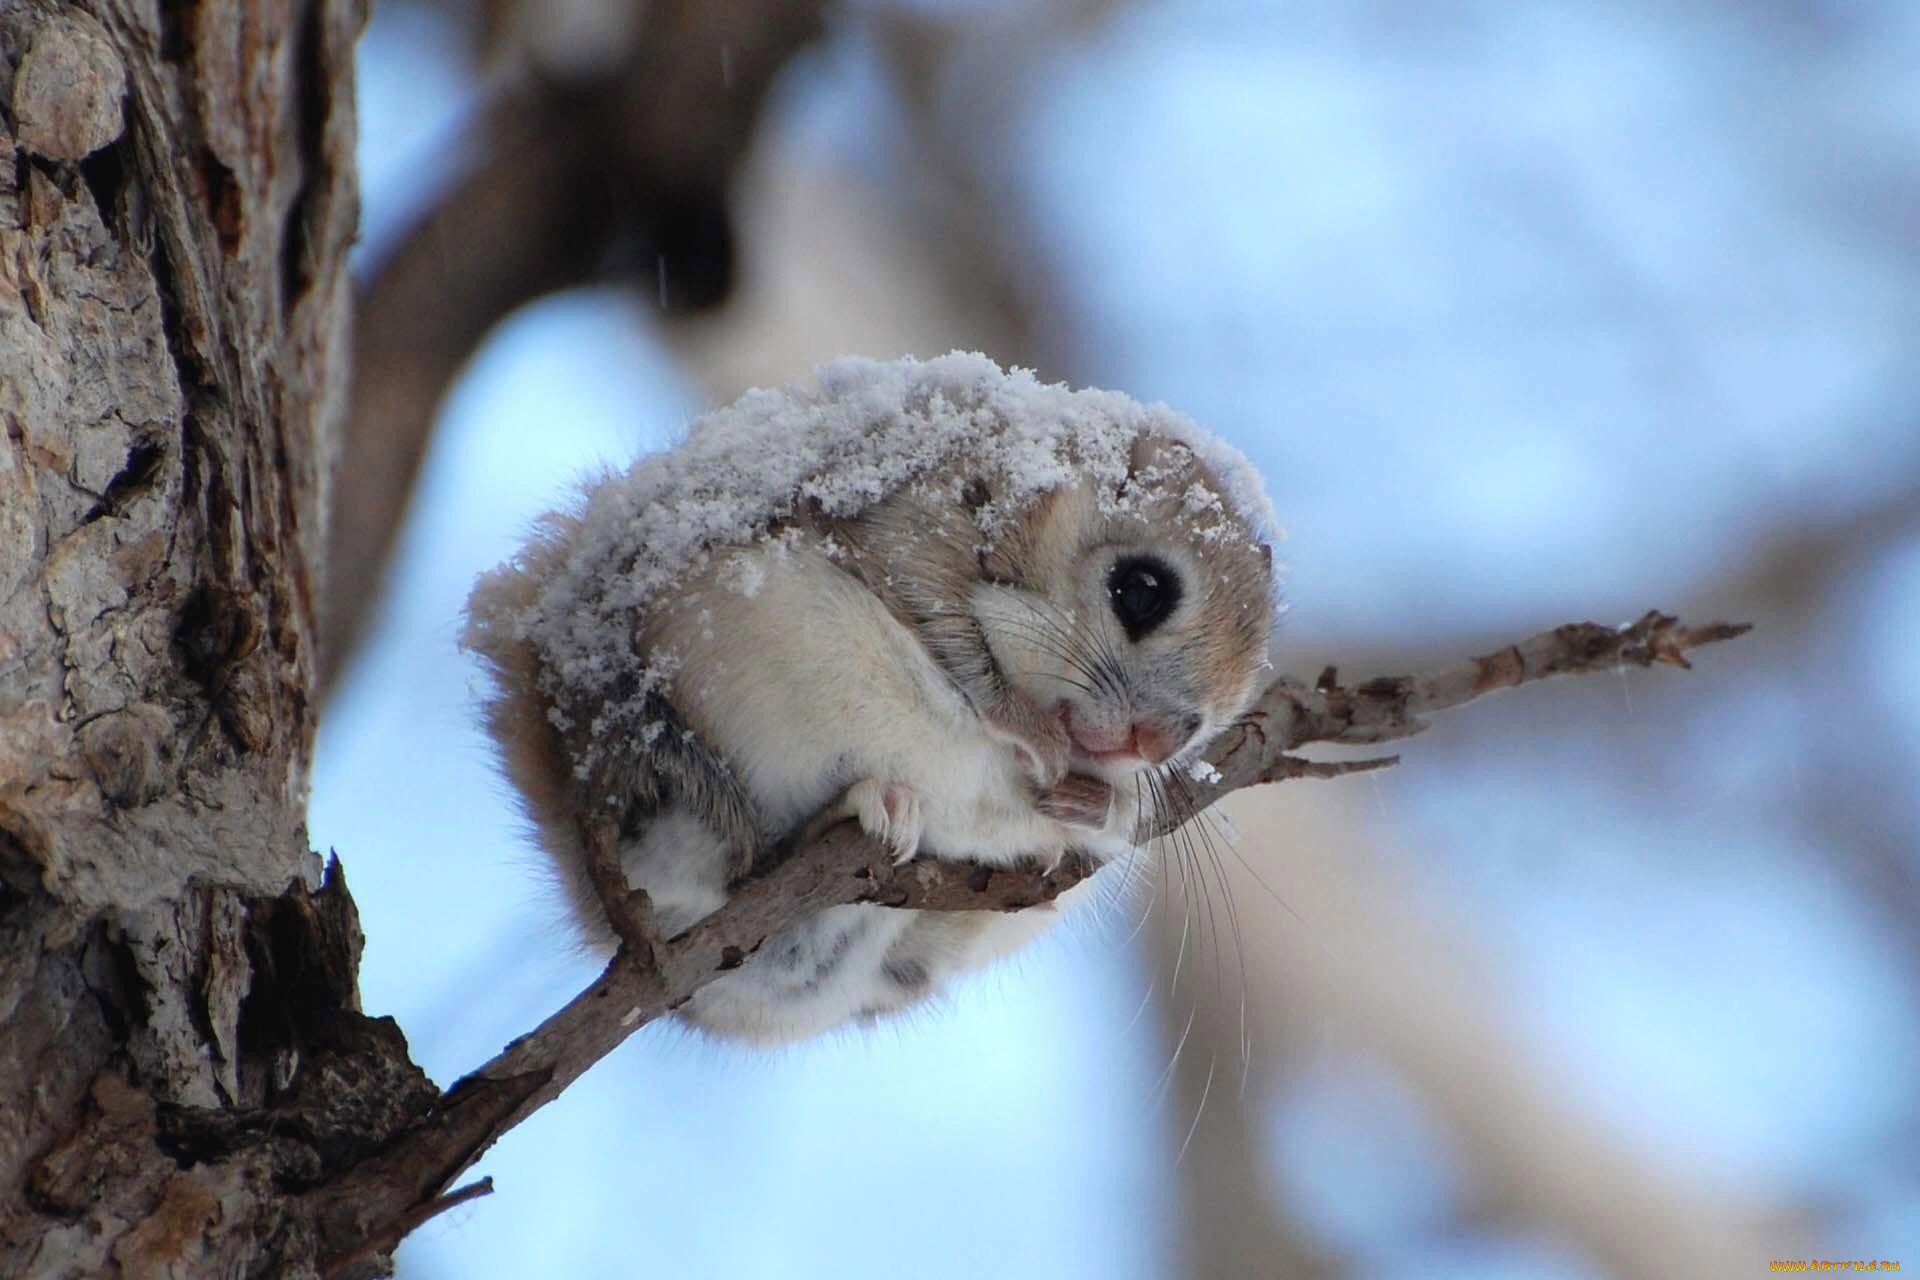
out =
[[[591,482],[480,578],[463,641],[503,770],[611,946],[588,806],[668,936],[839,818],[902,860],[1133,852],[1261,687],[1275,535],[1248,461],[1162,405],[981,355],[849,359]],[[799,1040],[1054,917],[831,908],[680,1015]]]

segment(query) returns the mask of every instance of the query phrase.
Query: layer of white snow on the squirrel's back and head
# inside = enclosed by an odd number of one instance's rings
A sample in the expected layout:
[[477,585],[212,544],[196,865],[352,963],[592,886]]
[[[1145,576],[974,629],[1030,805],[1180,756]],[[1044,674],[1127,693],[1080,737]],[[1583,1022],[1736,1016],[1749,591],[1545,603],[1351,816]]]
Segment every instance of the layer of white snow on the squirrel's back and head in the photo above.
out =
[[[991,541],[998,520],[1048,489],[1091,478],[1116,491],[1142,432],[1185,443],[1225,487],[1233,518],[1208,493],[1188,503],[1196,522],[1210,522],[1196,526],[1202,535],[1277,535],[1246,457],[1165,405],[1043,384],[975,353],[841,359],[816,368],[812,386],[747,391],[693,422],[680,445],[591,484],[580,509],[549,516],[541,537],[482,576],[465,643],[490,656],[507,637],[532,645],[549,693],[618,689],[637,710],[634,695],[662,687],[672,672],[634,651],[630,620],[703,568],[712,549],[764,539],[803,507],[858,516],[960,459],[1004,495],[979,512]],[[947,482],[958,503],[958,484],[950,474]]]

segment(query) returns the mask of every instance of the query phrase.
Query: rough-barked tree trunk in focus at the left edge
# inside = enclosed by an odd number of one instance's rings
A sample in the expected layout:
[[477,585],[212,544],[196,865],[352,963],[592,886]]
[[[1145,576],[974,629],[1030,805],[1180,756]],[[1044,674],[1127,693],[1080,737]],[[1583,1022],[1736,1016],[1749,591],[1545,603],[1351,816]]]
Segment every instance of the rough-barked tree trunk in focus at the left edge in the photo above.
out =
[[378,1270],[307,850],[359,0],[0,0],[0,1274]]

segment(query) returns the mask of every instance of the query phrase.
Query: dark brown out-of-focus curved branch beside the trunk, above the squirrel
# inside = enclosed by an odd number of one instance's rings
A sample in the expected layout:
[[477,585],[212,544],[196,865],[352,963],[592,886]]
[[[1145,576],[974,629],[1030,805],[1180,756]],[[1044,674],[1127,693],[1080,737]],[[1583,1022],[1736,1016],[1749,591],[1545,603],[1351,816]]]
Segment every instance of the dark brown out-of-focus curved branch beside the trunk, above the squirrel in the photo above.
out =
[[776,73],[820,33],[820,0],[655,0],[597,50],[484,109],[478,159],[361,292],[353,403],[334,486],[321,691],[378,599],[453,376],[516,307],[593,280],[664,311],[733,282],[730,186]]

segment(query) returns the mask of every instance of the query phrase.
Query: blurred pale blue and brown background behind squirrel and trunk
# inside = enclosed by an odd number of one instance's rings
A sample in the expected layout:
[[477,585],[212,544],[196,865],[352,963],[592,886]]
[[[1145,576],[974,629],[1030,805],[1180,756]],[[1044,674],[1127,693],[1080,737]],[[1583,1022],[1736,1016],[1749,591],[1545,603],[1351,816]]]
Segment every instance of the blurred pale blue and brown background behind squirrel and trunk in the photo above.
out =
[[311,835],[440,1084],[595,971],[474,723],[474,574],[816,361],[1233,439],[1298,676],[1757,624],[1242,793],[1206,877],[935,1013],[647,1027],[399,1274],[1920,1268],[1916,67],[1907,0],[380,0]]

